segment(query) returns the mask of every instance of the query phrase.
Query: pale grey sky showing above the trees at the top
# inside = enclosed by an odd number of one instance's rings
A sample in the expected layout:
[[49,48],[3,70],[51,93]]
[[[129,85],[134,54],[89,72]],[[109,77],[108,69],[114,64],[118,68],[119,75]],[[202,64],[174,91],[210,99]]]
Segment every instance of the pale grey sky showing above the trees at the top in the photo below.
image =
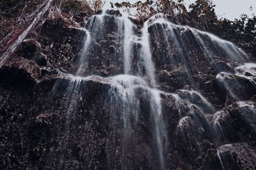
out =
[[[106,0],[105,8],[109,8],[109,2],[120,3],[122,0]],[[130,3],[135,3],[138,0],[124,0]],[[184,3],[188,7],[189,4],[194,3],[195,0],[184,0]],[[229,20],[234,20],[240,17],[242,13],[252,16],[252,13],[256,14],[256,0],[212,0],[216,4],[216,14],[219,18],[225,17]],[[250,10],[252,6],[253,10]]]

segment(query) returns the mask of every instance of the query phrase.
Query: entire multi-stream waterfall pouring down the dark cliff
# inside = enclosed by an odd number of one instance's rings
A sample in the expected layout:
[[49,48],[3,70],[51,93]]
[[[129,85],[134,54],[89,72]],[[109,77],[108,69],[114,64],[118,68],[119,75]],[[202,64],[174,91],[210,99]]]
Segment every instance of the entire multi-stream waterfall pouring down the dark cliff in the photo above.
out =
[[[116,58],[122,61],[122,73],[116,73],[115,75],[108,75],[108,73],[106,73],[106,76],[91,75],[90,72],[88,72],[88,70],[90,70],[90,59],[92,59],[92,56],[95,58],[100,57],[100,55],[104,55],[103,52],[101,54],[97,54],[98,56],[93,55],[96,54],[93,50],[93,43],[94,45],[105,45],[104,38],[108,35],[106,30],[107,26],[115,29],[111,31],[116,34],[113,34],[110,37],[112,38],[111,41],[115,43],[114,46],[115,49],[117,49],[116,51],[118,51],[113,52],[113,55],[116,55]],[[163,42],[163,49],[166,51],[166,56],[164,56],[165,58],[172,58],[172,55],[168,56],[168,54],[172,54],[172,51],[168,49],[168,47],[175,45],[178,50],[177,54],[179,54],[179,58],[177,59],[177,62],[174,59],[170,59],[170,63],[173,65],[182,63],[185,65],[187,71],[190,71],[189,69],[191,67],[193,68],[193,65],[190,65],[186,58],[186,48],[189,48],[189,43],[191,43],[189,42],[189,38],[191,38],[188,37],[189,35],[192,35],[193,42],[198,44],[198,47],[200,47],[202,52],[204,52],[204,57],[209,61],[214,61],[214,55],[212,52],[214,49],[224,52],[227,54],[228,58],[237,60],[241,63],[247,58],[247,56],[243,50],[239,49],[239,47],[233,43],[221,40],[220,38],[204,31],[199,31],[188,26],[173,24],[166,20],[163,14],[155,15],[144,22],[143,27],[140,30],[141,35],[140,31],[136,34],[136,29],[138,29],[138,27],[133,24],[127,16],[110,15],[107,10],[102,14],[93,15],[90,20],[86,22],[83,28],[86,36],[82,42],[83,47],[81,55],[78,56],[77,59],[75,75],[68,74],[67,76],[69,77],[69,82],[66,93],[71,98],[67,112],[67,123],[70,123],[68,118],[74,109],[76,109],[76,105],[79,100],[83,100],[83,97],[79,97],[81,96],[81,91],[85,88],[87,81],[100,80],[101,83],[111,86],[111,88],[108,89],[108,98],[111,98],[111,105],[118,104],[118,107],[120,107],[118,109],[122,111],[121,114],[118,112],[119,110],[111,111],[111,116],[113,116],[114,121],[114,117],[118,114],[117,116],[119,116],[119,118],[116,119],[118,121],[113,124],[116,125],[116,123],[118,123],[118,127],[123,128],[124,146],[122,146],[123,153],[121,159],[122,162],[125,162],[122,164],[125,169],[128,162],[127,155],[129,155],[126,153],[126,147],[128,146],[125,145],[125,140],[132,137],[130,132],[136,131],[136,125],[141,121],[140,114],[143,113],[140,106],[142,105],[142,102],[146,101],[150,105],[147,108],[147,114],[150,115],[150,125],[145,126],[146,128],[150,128],[148,131],[150,131],[150,137],[152,137],[150,144],[148,145],[150,145],[149,147],[154,150],[154,157],[157,158],[156,162],[157,166],[159,166],[158,168],[164,169],[166,167],[165,161],[168,153],[166,148],[168,146],[169,136],[167,134],[163,116],[163,95],[173,98],[179,114],[177,131],[181,130],[183,135],[182,140],[187,140],[186,142],[188,143],[191,134],[196,134],[193,130],[191,130],[189,134],[188,131],[190,125],[193,125],[193,127],[200,130],[204,128],[206,129],[208,126],[219,126],[221,128],[221,125],[218,122],[218,125],[216,125],[216,122],[211,124],[211,121],[207,120],[207,116],[211,116],[211,114],[215,113],[212,120],[216,120],[216,117],[218,117],[222,112],[216,112],[214,106],[212,106],[207,98],[198,91],[178,89],[175,93],[166,93],[158,89],[160,84],[157,82],[155,76],[156,63],[154,63],[155,58],[153,58],[152,55],[152,42],[150,42],[152,37],[160,36],[160,34],[162,34],[161,36],[164,36],[163,40],[165,42]],[[149,31],[150,29],[153,29],[153,31]],[[135,44],[139,44],[138,49],[134,49]],[[214,47],[214,49],[212,49],[212,47]],[[138,56],[133,56],[133,50],[138,52]],[[240,59],[238,56],[243,56],[244,58]],[[134,58],[137,59],[138,63],[133,62]],[[134,66],[138,66],[138,70],[132,69]],[[252,68],[254,68],[253,64],[237,67],[236,74],[246,77],[250,79],[250,81],[254,82],[253,77],[248,75],[248,73],[252,75],[255,74],[255,70],[252,71]],[[145,72],[140,72],[141,70],[145,70]],[[223,74],[224,73],[220,73],[216,78],[221,78]],[[83,77],[84,75],[88,76]],[[189,77],[191,78],[191,75],[189,75]],[[60,83],[61,82],[58,82],[56,86],[59,86]],[[141,100],[141,93],[143,93],[143,95],[148,95],[148,98],[146,98],[147,100]],[[76,97],[74,97],[74,95]],[[188,133],[186,134],[186,132]],[[218,156],[220,157],[219,153]]]

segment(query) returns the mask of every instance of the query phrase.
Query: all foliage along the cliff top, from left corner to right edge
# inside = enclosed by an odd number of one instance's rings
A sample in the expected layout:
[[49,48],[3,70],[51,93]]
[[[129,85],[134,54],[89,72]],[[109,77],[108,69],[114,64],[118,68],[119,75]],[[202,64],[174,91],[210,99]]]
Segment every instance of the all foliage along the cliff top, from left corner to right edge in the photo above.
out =
[[[25,26],[26,22],[29,21],[29,17],[35,13],[42,3],[44,3],[44,0],[0,1],[0,20],[3,21],[0,23],[0,38],[12,32],[9,30],[10,27],[14,29],[13,27]],[[52,11],[55,13],[68,13],[70,16],[87,11],[96,13],[102,8],[103,4],[104,1],[102,0],[56,0],[52,3],[52,6],[55,7]],[[137,1],[133,4],[123,1],[112,3],[111,6],[119,10],[125,9],[127,13],[131,13],[131,9],[135,8],[136,19],[138,20],[146,20],[156,13],[165,13],[176,24],[209,31],[236,43],[253,56],[256,56],[255,14],[251,17],[241,15],[239,19],[234,21],[223,18],[218,19],[214,10],[215,5],[209,0],[196,0],[195,3],[189,5],[189,9],[184,5],[184,0],[147,0],[145,2]]]

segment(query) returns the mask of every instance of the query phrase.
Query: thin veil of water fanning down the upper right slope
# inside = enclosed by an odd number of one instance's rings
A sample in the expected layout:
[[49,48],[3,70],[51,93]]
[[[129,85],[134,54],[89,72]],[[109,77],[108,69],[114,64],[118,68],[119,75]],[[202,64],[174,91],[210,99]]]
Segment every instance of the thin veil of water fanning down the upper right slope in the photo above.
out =
[[[173,24],[172,22],[164,19],[164,17],[159,17],[158,19],[154,20],[150,26],[155,26],[156,24],[161,25],[161,29],[158,29],[158,31],[163,31],[167,37],[171,37],[170,40],[173,40],[173,42],[177,45],[180,54],[184,55],[184,47],[190,48],[187,44],[189,44],[189,40],[192,40],[192,38],[189,36],[192,34],[195,37],[198,45],[200,45],[202,48],[203,52],[205,52],[205,58],[207,58],[209,61],[214,59],[214,50],[224,52],[228,58],[236,61],[241,62],[247,61],[248,59],[248,55],[242,49],[234,45],[234,43],[222,40],[221,38],[218,38],[218,36],[212,35],[211,33],[200,31],[189,26]],[[166,41],[165,43],[170,43],[168,38],[164,38],[164,40]],[[180,45],[182,45],[182,47]]]

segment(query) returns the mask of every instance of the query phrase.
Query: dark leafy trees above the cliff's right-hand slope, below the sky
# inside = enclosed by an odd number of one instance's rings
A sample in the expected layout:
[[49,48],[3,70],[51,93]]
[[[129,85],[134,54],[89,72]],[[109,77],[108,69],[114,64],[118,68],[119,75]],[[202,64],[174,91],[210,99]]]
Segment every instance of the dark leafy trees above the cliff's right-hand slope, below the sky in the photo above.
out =
[[[147,18],[155,13],[166,13],[173,22],[182,25],[196,27],[204,31],[209,31],[226,40],[230,40],[253,56],[256,56],[256,15],[252,17],[241,15],[240,19],[230,21],[228,19],[218,19],[215,13],[215,5],[209,0],[196,0],[189,5],[189,9],[184,6],[184,0],[159,0],[146,1],[141,3],[116,3],[117,8],[137,8],[138,18]],[[248,9],[249,10],[249,9]],[[251,9],[252,10],[252,9]]]

